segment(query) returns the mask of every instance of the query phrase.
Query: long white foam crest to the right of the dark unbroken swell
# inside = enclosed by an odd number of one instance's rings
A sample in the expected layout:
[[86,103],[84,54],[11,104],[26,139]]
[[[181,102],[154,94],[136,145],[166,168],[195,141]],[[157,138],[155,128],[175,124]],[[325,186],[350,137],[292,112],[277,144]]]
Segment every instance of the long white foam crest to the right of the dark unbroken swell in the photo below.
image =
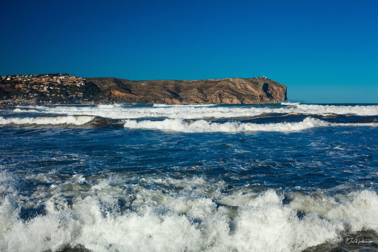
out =
[[278,131],[293,132],[325,126],[371,126],[378,127],[378,123],[330,123],[316,118],[307,117],[300,122],[282,123],[241,123],[237,121],[226,123],[212,123],[205,120],[185,121],[183,119],[165,119],[162,121],[126,120],[124,127],[129,129],[159,129],[180,132],[248,132],[248,131]]

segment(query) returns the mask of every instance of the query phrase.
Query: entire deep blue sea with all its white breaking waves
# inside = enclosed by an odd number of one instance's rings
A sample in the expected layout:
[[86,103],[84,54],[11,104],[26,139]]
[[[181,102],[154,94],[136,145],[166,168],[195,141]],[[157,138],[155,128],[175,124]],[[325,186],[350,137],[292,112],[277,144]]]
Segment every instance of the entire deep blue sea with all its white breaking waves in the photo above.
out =
[[0,251],[378,251],[378,104],[0,111]]

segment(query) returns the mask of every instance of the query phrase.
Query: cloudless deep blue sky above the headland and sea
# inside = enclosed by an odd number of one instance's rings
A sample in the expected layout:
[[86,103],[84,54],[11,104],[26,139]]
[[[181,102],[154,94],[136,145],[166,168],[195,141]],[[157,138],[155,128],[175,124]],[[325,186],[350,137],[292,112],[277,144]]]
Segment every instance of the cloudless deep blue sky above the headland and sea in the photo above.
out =
[[3,1],[0,75],[261,75],[291,101],[378,103],[378,1]]

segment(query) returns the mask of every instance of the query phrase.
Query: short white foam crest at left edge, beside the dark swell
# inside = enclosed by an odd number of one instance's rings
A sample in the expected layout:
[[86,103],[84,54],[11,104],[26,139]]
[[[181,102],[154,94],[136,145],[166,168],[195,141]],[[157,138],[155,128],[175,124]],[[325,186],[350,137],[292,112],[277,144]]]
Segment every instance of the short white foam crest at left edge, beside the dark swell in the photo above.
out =
[[95,117],[89,115],[67,115],[56,117],[0,117],[0,124],[74,124],[83,125]]

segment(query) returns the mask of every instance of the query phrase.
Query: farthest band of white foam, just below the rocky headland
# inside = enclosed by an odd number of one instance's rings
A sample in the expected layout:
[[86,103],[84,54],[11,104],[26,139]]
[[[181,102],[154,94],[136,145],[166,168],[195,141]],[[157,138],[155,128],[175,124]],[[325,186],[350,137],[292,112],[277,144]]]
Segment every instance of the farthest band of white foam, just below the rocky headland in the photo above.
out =
[[59,115],[93,115],[113,119],[133,119],[143,117],[167,117],[183,119],[254,117],[261,114],[339,114],[339,115],[378,115],[378,105],[335,106],[290,103],[291,106],[216,106],[162,105],[132,106],[125,104],[100,104],[98,106],[29,106],[29,110],[15,109],[16,113],[43,113]]

